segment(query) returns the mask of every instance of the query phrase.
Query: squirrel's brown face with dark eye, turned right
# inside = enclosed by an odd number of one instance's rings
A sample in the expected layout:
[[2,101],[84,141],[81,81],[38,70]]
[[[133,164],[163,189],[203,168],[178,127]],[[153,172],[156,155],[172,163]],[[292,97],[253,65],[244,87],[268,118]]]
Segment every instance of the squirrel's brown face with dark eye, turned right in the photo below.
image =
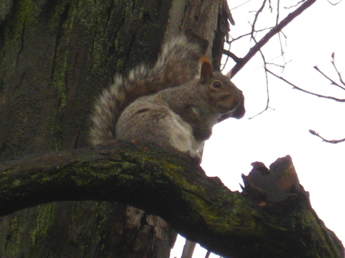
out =
[[[244,97],[242,92],[230,82],[230,80],[220,72],[214,72],[213,76],[206,80],[204,86],[208,87],[208,100],[210,106],[214,108],[213,112],[220,115],[235,117],[244,116]],[[239,111],[237,109],[241,109]]]

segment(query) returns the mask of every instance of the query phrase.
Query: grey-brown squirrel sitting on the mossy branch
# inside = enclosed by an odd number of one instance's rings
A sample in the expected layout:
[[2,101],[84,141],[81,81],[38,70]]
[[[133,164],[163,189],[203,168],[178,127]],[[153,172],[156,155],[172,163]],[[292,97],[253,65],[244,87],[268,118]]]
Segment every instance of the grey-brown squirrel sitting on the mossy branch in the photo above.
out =
[[201,158],[212,127],[244,116],[244,96],[228,76],[214,72],[201,47],[185,36],[165,43],[152,67],[117,75],[92,114],[90,143],[148,140]]

